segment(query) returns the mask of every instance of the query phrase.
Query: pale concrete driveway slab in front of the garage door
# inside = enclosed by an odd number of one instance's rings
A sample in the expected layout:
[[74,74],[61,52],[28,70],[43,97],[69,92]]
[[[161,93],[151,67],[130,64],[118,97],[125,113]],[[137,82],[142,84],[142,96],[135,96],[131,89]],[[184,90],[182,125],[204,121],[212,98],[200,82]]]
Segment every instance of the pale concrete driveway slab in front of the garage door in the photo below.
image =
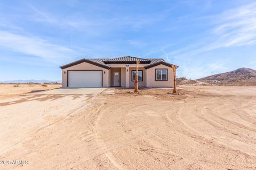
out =
[[106,88],[59,88],[37,92],[38,95],[87,95],[100,94]]

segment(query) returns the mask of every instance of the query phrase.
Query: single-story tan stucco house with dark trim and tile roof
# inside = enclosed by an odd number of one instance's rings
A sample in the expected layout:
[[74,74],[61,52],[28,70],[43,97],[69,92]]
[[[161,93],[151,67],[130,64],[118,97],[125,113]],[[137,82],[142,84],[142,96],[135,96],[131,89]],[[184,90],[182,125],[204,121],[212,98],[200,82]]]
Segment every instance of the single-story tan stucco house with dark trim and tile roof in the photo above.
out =
[[63,66],[62,87],[134,87],[136,61],[139,87],[173,87],[172,64],[162,58],[92,58],[75,61]]

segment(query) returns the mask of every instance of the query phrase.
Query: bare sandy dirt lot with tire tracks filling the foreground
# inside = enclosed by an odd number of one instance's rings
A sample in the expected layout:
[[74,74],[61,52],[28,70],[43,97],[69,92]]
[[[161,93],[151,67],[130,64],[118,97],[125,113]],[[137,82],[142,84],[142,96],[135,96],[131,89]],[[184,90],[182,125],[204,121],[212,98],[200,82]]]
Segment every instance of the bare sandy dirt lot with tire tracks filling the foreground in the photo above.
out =
[[256,87],[131,91],[0,98],[0,169],[256,169]]

